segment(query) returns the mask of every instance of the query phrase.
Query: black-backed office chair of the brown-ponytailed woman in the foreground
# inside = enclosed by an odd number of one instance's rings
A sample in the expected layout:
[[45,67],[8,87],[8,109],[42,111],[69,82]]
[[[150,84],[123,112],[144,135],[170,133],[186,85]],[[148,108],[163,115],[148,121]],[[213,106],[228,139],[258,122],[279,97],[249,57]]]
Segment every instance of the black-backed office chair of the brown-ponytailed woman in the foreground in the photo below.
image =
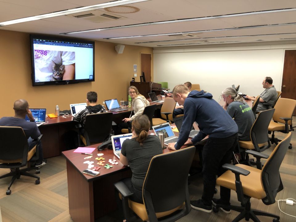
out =
[[[181,150],[154,156],[143,184],[143,202],[128,199],[133,195],[123,182],[114,184],[121,195],[124,217],[130,222],[132,209],[143,221],[176,221],[191,211],[188,193],[188,172],[195,153],[191,146]],[[181,164],[176,166],[176,160]]]

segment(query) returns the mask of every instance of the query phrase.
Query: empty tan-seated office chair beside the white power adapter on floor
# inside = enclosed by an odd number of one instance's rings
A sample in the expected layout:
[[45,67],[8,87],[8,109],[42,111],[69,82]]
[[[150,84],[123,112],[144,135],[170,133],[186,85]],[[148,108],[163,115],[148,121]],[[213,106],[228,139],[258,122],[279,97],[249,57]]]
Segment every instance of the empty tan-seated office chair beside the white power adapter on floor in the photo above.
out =
[[[288,150],[291,137],[292,134],[290,132],[286,138],[274,148],[270,156],[251,150],[247,151],[256,158],[267,159],[262,170],[243,164],[237,164],[235,166],[224,164],[222,166],[228,169],[228,171],[218,177],[216,180],[217,185],[235,190],[237,199],[241,202],[241,206],[230,206],[231,210],[241,212],[232,222],[238,222],[244,218],[247,221],[252,219],[253,221],[260,222],[257,218],[259,215],[273,217],[273,222],[280,220],[280,217],[277,215],[251,209],[250,199],[251,197],[261,199],[265,205],[275,203],[277,193],[284,188],[279,168]],[[213,208],[213,211],[218,212],[219,208],[225,207],[229,208],[229,206],[217,204],[216,207]]]

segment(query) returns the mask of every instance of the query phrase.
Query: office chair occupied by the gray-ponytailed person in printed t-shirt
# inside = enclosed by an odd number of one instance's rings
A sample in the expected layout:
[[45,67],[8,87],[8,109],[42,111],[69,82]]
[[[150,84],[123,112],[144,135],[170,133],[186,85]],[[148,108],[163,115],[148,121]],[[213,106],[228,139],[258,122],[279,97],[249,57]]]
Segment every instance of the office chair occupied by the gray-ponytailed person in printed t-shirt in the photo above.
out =
[[[268,149],[271,144],[268,138],[268,125],[271,121],[272,115],[275,109],[267,109],[261,111],[257,118],[255,119],[251,130],[250,130],[250,141],[239,141],[239,151],[241,156],[243,157],[243,162],[248,165],[251,165],[249,161],[249,155],[246,150],[255,150],[257,152],[263,152],[264,150]],[[256,161],[257,168],[259,166],[262,167],[261,162],[259,160]]]

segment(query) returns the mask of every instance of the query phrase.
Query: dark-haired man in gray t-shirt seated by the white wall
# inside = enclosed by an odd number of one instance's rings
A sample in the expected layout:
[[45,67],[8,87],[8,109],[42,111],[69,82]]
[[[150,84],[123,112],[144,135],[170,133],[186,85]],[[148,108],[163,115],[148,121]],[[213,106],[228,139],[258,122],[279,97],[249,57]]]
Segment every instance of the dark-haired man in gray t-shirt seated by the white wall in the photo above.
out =
[[[262,103],[266,102],[273,105],[276,99],[278,98],[278,92],[274,88],[272,82],[273,82],[272,78],[268,76],[266,76],[265,79],[262,81],[262,85],[263,85],[263,88],[265,88],[265,90],[260,94],[259,104],[257,106],[256,111],[260,112],[266,109],[270,109],[271,106],[267,108],[267,106],[263,105]],[[246,95],[246,99],[249,99],[252,101],[255,101],[256,98],[257,97]]]

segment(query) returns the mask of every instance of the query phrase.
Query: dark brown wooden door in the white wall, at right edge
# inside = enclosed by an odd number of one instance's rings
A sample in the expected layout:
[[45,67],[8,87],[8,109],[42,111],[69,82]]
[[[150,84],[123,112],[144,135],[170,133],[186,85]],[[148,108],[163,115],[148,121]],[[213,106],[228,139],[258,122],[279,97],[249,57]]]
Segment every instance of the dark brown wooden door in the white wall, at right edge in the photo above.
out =
[[[296,100],[296,50],[286,50],[282,79],[282,98]],[[294,110],[293,116],[296,115]]]

